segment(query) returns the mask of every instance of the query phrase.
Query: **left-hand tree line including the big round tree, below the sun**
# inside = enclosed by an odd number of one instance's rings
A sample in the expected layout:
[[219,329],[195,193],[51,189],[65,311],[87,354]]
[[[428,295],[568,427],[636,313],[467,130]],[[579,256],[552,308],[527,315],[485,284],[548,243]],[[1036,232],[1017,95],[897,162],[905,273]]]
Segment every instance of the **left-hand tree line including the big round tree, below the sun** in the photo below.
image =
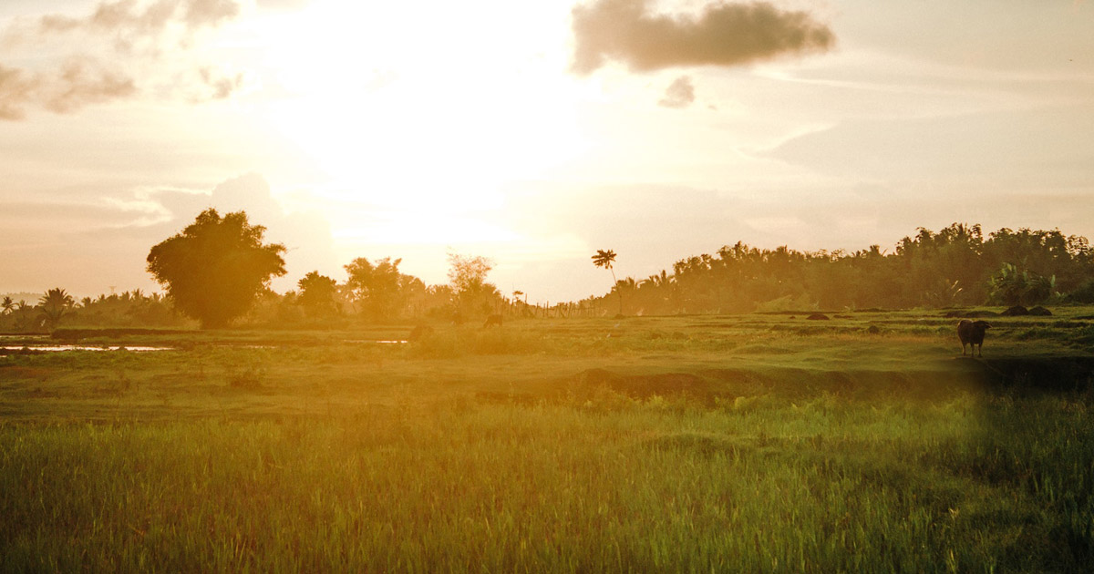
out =
[[449,254],[447,284],[427,285],[401,272],[401,259],[359,257],[345,266],[348,279],[344,283],[316,270],[301,278],[295,290],[278,294],[269,284],[286,274],[286,247],[265,243],[265,233],[245,212],[221,215],[208,209],[149,251],[148,271],[164,288],[163,294],[135,290],[74,301],[57,288],[37,304],[8,296],[0,311],[0,332],[53,330],[62,321],[174,327],[193,320],[202,328],[241,323],[328,327],[408,318],[459,323],[517,305],[487,281],[491,260],[455,253]]

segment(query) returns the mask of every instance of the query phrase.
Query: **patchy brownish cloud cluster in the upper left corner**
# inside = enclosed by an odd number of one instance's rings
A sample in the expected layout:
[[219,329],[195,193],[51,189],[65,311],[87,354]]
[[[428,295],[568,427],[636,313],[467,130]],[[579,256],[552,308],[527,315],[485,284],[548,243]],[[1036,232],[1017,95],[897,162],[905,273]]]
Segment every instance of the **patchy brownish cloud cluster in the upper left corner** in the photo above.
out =
[[[136,97],[142,85],[155,83],[158,73],[185,62],[179,55],[195,34],[237,16],[240,10],[237,0],[116,0],[101,2],[80,17],[16,20],[4,31],[3,47],[28,46],[32,52],[23,60],[33,63],[0,63],[0,119],[23,119],[31,107],[69,114],[89,104]],[[70,46],[79,46],[79,51]],[[243,84],[242,73],[183,66],[186,72],[176,69],[171,85],[155,92],[205,102],[226,98]]]

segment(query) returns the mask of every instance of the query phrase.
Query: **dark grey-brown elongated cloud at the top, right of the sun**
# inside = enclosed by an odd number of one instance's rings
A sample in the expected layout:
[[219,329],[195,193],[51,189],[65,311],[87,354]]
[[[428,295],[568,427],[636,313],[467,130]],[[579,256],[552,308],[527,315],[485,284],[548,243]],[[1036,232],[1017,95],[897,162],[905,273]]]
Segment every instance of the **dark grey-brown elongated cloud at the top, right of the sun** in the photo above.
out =
[[713,3],[698,17],[648,11],[649,0],[600,0],[572,11],[577,48],[570,70],[587,75],[608,60],[633,71],[743,66],[780,56],[824,52],[836,36],[806,12],[765,1]]

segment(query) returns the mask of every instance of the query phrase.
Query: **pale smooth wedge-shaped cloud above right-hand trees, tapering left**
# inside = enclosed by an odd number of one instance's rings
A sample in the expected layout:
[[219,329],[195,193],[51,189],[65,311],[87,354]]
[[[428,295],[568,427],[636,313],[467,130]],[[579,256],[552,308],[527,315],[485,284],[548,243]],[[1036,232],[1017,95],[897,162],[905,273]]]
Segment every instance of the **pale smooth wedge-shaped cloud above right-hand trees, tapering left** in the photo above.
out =
[[[987,199],[1001,189],[1091,189],[1094,104],[861,119],[759,153],[818,174],[907,181]],[[993,189],[994,188],[994,189]]]

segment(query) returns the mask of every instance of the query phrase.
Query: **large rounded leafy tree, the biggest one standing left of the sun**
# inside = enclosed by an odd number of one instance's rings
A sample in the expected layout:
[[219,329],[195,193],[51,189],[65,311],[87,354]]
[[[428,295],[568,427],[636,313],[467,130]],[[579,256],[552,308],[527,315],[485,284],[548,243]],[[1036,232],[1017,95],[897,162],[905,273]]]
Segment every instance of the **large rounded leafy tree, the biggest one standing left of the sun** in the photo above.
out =
[[264,244],[266,227],[243,211],[198,214],[182,233],[152,247],[148,270],[175,307],[201,323],[224,327],[247,312],[270,278],[284,274],[284,246]]

